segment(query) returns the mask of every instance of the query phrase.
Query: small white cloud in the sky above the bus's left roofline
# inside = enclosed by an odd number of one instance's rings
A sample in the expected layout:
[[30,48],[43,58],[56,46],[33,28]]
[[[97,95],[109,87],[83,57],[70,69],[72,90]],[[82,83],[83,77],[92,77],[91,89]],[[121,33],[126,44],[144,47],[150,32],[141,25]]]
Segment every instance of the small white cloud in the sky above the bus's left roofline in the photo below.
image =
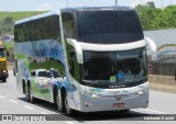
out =
[[54,10],[53,3],[43,3],[36,9],[36,11],[51,11],[51,10]]

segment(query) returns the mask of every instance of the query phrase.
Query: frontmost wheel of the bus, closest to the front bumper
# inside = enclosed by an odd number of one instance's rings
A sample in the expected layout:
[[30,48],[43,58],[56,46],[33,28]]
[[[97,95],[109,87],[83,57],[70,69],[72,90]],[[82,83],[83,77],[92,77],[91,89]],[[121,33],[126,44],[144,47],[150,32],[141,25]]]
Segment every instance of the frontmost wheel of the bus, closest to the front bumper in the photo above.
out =
[[65,93],[65,97],[64,97],[64,106],[65,106],[66,114],[72,115],[74,113],[74,110],[69,108],[68,97],[67,97],[66,93]]

